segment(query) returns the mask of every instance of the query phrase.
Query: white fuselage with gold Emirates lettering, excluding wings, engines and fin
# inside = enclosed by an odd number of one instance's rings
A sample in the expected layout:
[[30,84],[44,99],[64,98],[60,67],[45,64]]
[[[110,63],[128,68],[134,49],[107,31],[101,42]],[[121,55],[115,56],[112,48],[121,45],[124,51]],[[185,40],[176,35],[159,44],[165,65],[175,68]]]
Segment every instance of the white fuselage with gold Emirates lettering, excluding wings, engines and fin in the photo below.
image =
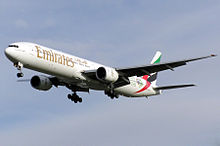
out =
[[[18,48],[9,47],[6,56],[12,62],[21,62],[25,68],[56,76],[65,82],[88,87],[94,90],[105,90],[106,86],[97,80],[82,75],[83,71],[104,67],[86,59],[53,50],[33,43],[14,43]],[[142,77],[129,77],[130,84],[115,88],[114,91],[127,97],[141,97],[160,94]],[[142,91],[143,90],[143,91]]]

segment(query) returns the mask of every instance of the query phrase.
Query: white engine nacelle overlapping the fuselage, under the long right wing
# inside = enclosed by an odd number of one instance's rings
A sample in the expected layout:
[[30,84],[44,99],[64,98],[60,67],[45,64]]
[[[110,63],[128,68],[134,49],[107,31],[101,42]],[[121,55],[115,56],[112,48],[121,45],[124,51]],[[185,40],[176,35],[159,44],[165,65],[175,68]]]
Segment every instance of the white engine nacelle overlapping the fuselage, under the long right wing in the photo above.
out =
[[96,77],[97,79],[108,82],[108,83],[114,83],[118,80],[119,74],[118,72],[110,67],[99,67],[96,71]]

